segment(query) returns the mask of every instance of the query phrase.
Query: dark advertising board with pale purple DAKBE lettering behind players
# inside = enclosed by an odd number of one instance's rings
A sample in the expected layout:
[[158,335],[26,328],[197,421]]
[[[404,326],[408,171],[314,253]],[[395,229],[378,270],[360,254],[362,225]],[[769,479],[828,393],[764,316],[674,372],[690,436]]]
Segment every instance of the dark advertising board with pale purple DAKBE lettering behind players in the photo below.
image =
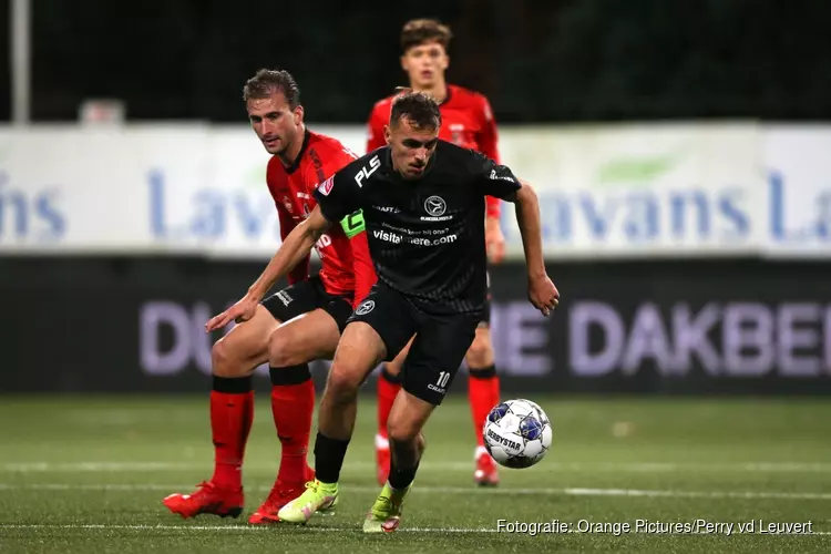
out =
[[[6,259],[0,304],[6,392],[207,390],[205,321],[259,263],[197,258]],[[563,304],[525,299],[519,263],[494,267],[492,314],[504,390],[563,393],[831,392],[824,261],[550,264]],[[318,384],[327,363],[314,365]],[[463,369],[464,370],[464,369]],[[267,387],[259,368],[258,387]],[[465,390],[464,380],[453,387]]]

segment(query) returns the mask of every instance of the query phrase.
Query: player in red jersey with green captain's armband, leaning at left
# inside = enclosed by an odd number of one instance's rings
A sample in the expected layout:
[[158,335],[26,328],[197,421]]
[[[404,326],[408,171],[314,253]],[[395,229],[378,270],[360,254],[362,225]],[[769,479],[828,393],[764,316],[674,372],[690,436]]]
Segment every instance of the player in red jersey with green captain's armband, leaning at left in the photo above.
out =
[[[357,156],[339,141],[306,129],[299,90],[288,72],[260,70],[247,81],[243,98],[257,137],[273,154],[266,181],[285,239],[317,205],[312,196],[317,185]],[[254,414],[252,373],[266,361],[281,458],[274,488],[249,523],[279,521],[279,509],[314,478],[307,464],[315,409],[308,362],[331,359],[355,302],[376,281],[362,219],[347,219],[315,245],[321,260],[316,276],[308,275],[307,256],[289,274],[289,286],[266,298],[276,280],[269,263],[243,299],[207,322],[208,332],[238,322],[212,350],[214,475],[194,493],[164,499],[172,512],[183,517],[242,513],[243,456]]]

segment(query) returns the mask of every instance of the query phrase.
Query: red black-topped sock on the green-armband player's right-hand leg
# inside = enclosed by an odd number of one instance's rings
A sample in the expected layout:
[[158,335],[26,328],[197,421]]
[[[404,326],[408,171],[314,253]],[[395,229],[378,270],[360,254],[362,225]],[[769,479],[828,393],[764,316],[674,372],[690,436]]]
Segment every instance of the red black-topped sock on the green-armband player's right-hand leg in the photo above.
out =
[[271,416],[280,440],[280,470],[284,483],[305,483],[309,479],[307,453],[311,417],[315,412],[315,383],[309,366],[270,368]]

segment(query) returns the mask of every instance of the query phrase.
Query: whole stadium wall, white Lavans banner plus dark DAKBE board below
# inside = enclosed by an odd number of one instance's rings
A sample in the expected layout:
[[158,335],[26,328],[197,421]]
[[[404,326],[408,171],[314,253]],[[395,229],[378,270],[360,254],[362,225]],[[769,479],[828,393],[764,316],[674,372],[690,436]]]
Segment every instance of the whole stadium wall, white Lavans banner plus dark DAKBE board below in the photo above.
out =
[[[363,147],[361,127],[312,126]],[[563,294],[548,320],[527,304],[504,209],[506,391],[831,391],[831,127],[506,127],[500,144],[538,191]],[[0,391],[206,390],[202,326],[279,243],[266,160],[245,126],[0,129]]]

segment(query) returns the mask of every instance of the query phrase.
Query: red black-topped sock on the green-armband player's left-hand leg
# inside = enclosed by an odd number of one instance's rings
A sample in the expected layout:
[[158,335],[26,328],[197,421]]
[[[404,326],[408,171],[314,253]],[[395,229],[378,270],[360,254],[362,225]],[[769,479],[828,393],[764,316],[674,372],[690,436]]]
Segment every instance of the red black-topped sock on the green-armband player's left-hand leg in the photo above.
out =
[[254,420],[250,377],[214,376],[211,391],[211,430],[214,440],[214,476],[219,489],[243,486],[243,458]]

